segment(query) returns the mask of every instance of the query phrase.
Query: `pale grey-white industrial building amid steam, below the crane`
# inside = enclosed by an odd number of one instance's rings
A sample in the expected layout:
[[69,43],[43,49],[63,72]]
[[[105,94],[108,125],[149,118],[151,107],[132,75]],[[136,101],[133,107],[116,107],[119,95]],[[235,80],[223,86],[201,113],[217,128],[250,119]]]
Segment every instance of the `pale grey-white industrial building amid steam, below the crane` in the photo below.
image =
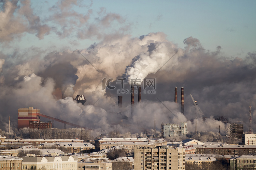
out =
[[163,137],[187,136],[187,122],[181,122],[181,127],[175,123],[163,123],[161,124],[161,132]]

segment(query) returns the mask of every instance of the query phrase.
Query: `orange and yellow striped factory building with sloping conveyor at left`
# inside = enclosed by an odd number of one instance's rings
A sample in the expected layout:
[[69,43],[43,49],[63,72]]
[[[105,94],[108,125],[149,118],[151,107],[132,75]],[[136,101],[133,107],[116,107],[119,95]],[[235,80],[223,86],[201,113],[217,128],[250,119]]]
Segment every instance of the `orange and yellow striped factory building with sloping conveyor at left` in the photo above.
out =
[[28,128],[29,121],[39,121],[39,116],[37,116],[37,112],[40,112],[40,109],[35,109],[33,107],[19,108],[18,109],[18,129]]

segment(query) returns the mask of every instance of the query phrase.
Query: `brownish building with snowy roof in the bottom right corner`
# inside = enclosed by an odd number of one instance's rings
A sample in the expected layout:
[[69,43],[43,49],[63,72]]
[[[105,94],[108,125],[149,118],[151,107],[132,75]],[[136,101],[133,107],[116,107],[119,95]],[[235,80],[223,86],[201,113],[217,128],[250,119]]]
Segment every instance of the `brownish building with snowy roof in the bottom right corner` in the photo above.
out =
[[256,156],[253,155],[233,157],[229,161],[232,170],[256,169]]

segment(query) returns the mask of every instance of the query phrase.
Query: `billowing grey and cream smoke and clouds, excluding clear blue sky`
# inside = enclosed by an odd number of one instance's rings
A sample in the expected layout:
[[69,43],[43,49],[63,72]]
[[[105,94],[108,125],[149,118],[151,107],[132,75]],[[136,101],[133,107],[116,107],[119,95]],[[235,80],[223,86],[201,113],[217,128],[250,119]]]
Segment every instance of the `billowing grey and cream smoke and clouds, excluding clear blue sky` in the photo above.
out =
[[[35,34],[39,39],[50,32],[55,32],[60,38],[70,36],[70,33],[81,39],[97,37],[101,40],[99,43],[79,51],[100,73],[75,49],[51,51],[43,57],[35,55],[42,49],[34,47],[29,49],[33,54],[13,51],[8,57],[0,53],[1,129],[5,129],[8,122],[6,115],[11,116],[15,126],[17,109],[23,107],[40,108],[42,114],[75,122],[98,98],[99,101],[76,122],[94,129],[95,133],[100,133],[101,130],[118,130],[121,133],[150,130],[154,127],[155,113],[157,129],[160,129],[161,123],[188,122],[188,130],[194,131],[195,111],[192,101],[189,104],[189,94],[193,95],[208,117],[205,122],[197,117],[198,131],[217,132],[218,125],[221,125],[222,134],[226,134],[228,124],[215,121],[213,117],[218,116],[224,116],[231,122],[243,121],[246,130],[249,103],[252,105],[253,120],[256,116],[253,109],[256,106],[256,90],[253,88],[256,84],[255,52],[249,52],[244,58],[228,58],[223,56],[220,46],[216,51],[208,51],[193,37],[184,40],[185,49],[168,41],[161,32],[131,37],[125,34],[124,28],[128,28],[125,19],[117,14],[106,13],[104,8],[99,12],[96,24],[87,22],[91,10],[86,15],[69,13],[69,7],[77,5],[77,1],[61,1],[57,7],[52,8],[57,8],[54,15],[43,20],[34,15],[30,1],[22,1],[21,7],[17,3],[18,1],[4,1],[2,4],[4,10],[0,17],[4,19],[0,21],[0,42],[8,44],[24,33]],[[19,15],[14,15],[15,12],[25,17],[20,20]],[[56,30],[47,24],[50,18],[62,29]],[[79,22],[75,22],[73,26],[65,25],[72,18],[78,18]],[[120,25],[119,30],[111,28],[112,22]],[[16,25],[11,25],[12,23]],[[104,28],[109,32],[103,33]],[[175,56],[166,63],[177,50],[179,51]],[[161,66],[163,67],[156,72]],[[117,107],[117,96],[120,94],[117,94],[119,86],[115,83],[122,76],[127,77],[129,82],[136,78],[156,78],[157,81],[156,94],[142,94],[142,102],[135,102],[132,118],[130,94],[123,94],[123,108]],[[112,85],[117,88],[102,90],[103,78],[113,78]],[[178,87],[178,101],[180,87],[184,87],[184,115],[180,113],[180,105],[173,100],[175,86]],[[61,99],[62,94],[64,99]],[[73,101],[72,98],[79,94],[85,95],[85,105]],[[122,115],[117,114],[118,112]],[[123,123],[120,122],[121,119]],[[55,123],[55,126],[63,127]],[[253,129],[256,130],[254,124]]]

